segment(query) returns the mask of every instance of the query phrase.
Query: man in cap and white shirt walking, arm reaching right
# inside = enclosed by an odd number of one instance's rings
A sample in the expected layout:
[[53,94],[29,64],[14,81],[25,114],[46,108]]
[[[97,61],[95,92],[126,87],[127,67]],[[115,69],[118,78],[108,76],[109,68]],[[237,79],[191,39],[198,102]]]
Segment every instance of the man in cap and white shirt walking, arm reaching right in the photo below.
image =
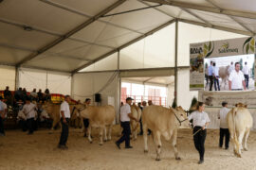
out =
[[123,128],[123,133],[119,141],[116,142],[119,149],[120,149],[120,144],[123,143],[123,141],[125,141],[125,148],[133,148],[130,145],[130,134],[131,134],[130,119],[133,119],[137,122],[139,120],[133,117],[131,113],[130,106],[132,104],[132,100],[133,99],[131,97],[126,98],[126,104],[120,108],[120,125]]

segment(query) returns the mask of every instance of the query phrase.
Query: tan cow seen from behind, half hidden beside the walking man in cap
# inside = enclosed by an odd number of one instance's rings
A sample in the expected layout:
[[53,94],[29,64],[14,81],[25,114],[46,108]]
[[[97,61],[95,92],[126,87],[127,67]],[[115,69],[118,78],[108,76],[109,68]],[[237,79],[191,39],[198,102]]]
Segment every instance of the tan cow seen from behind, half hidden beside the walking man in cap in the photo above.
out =
[[[135,105],[131,106],[131,113],[132,113],[133,117],[137,118],[137,120],[140,119],[141,110],[137,106],[135,106]],[[131,124],[133,139],[137,140],[137,128],[139,127],[139,123],[136,122],[135,120],[131,119],[130,124]]]

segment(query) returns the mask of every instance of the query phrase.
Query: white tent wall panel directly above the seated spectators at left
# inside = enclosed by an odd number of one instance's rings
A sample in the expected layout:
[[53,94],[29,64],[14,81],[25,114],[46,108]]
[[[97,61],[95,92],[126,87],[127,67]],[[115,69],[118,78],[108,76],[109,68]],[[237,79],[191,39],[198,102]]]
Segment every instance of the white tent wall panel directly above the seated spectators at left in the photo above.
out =
[[71,76],[45,70],[19,68],[19,87],[26,88],[27,92],[36,88],[37,91],[41,89],[44,93],[48,88],[50,93],[70,94]]

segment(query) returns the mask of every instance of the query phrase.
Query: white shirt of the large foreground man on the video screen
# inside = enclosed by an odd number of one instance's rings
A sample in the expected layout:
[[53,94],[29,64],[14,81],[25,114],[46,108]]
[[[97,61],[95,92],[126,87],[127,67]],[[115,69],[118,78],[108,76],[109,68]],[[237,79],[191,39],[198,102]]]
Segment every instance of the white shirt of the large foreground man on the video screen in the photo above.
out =
[[229,75],[229,81],[231,81],[231,89],[244,89],[243,80],[245,80],[244,74],[240,70],[238,73],[233,70]]

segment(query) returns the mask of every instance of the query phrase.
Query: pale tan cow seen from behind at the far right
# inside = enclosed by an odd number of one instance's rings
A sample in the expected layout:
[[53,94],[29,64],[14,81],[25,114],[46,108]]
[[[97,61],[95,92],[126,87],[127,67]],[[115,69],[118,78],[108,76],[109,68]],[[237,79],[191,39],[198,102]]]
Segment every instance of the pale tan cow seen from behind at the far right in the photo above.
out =
[[247,138],[253,121],[247,105],[236,104],[236,107],[229,111],[227,115],[230,138],[234,145],[234,154],[241,158],[241,150],[247,150]]

